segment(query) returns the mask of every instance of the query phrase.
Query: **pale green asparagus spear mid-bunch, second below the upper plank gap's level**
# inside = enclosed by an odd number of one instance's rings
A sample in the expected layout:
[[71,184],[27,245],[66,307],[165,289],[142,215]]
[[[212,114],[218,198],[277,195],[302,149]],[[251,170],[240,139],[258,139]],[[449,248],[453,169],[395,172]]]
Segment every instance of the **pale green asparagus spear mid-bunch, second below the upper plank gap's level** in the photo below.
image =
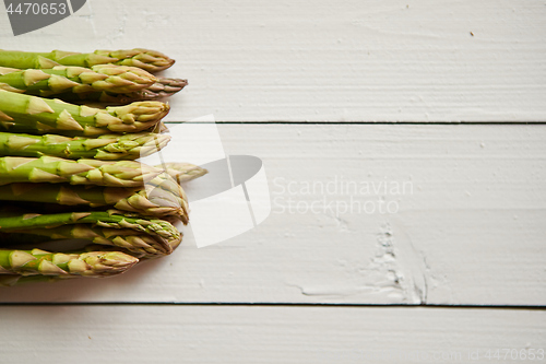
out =
[[134,161],[70,161],[54,156],[0,157],[0,185],[29,181],[140,187],[161,173],[158,168]]

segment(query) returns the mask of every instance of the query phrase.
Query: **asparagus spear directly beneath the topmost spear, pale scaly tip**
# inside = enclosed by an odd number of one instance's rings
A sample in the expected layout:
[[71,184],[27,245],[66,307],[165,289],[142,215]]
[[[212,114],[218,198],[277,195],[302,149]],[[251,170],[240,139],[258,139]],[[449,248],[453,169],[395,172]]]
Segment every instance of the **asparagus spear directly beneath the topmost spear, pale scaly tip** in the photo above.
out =
[[28,95],[88,93],[107,91],[120,94],[152,86],[157,79],[135,67],[97,64],[91,69],[57,66],[46,70],[20,70],[0,75],[0,89]]

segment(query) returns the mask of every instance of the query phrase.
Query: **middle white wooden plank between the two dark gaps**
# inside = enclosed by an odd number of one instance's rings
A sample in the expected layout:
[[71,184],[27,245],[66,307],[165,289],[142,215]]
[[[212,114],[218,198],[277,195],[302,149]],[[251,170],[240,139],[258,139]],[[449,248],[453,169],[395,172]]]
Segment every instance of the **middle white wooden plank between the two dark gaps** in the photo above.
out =
[[218,128],[228,153],[263,160],[264,223],[202,249],[186,230],[176,254],[122,277],[0,302],[546,303],[546,126]]

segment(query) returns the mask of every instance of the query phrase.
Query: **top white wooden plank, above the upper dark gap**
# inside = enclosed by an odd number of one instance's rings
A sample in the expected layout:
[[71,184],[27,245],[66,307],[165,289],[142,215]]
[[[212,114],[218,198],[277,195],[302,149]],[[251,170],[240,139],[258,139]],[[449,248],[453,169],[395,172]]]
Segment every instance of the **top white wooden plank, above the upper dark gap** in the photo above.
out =
[[170,120],[546,120],[542,1],[94,0],[19,37],[2,16],[5,49],[168,52]]

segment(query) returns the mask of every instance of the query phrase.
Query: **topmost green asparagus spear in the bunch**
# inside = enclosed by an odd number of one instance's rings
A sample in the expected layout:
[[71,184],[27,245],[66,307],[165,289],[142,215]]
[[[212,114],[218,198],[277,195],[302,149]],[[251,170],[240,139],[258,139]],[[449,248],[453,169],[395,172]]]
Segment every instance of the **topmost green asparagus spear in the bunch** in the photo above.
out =
[[149,72],[157,72],[173,66],[175,60],[162,52],[142,48],[128,50],[95,50],[92,54],[62,50],[54,50],[51,52],[0,50],[1,67],[49,69],[63,64],[90,68],[95,64],[107,63],[138,67]]

